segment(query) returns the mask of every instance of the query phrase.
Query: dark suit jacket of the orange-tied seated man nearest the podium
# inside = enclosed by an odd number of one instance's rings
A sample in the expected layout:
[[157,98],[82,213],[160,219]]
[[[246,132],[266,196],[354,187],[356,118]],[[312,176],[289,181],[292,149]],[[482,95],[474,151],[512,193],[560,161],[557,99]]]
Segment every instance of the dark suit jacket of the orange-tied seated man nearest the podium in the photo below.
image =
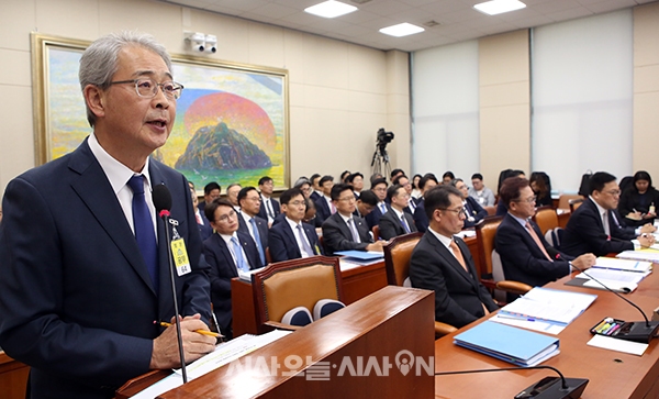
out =
[[455,241],[470,274],[433,232],[426,231],[412,252],[410,280],[412,287],[435,291],[436,321],[461,328],[485,315],[481,303],[489,311],[498,308],[478,280],[467,244],[458,237]]

